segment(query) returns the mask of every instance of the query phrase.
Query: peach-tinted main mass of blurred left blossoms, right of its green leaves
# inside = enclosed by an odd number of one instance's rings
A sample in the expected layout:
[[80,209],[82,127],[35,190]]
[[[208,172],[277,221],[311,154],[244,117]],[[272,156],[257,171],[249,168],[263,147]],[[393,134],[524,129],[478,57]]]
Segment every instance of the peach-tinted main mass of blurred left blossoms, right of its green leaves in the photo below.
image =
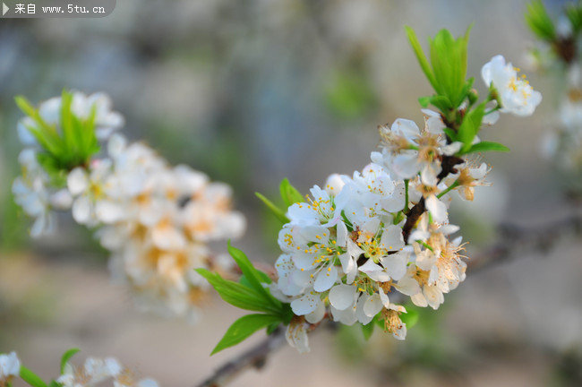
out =
[[184,165],[172,168],[145,144],[127,144],[118,134],[108,155],[69,174],[73,218],[102,225],[97,235],[113,253],[113,275],[135,290],[141,306],[195,319],[209,285],[193,268],[228,271],[229,261],[207,243],[244,232],[243,215],[231,210],[230,187]]

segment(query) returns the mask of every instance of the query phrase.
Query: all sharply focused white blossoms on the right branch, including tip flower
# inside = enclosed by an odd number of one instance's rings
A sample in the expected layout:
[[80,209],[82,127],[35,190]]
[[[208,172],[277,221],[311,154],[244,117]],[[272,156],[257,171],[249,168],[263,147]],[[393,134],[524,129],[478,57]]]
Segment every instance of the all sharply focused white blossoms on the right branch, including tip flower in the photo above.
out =
[[[495,90],[489,101],[498,102],[485,115],[526,116],[539,104],[539,92],[518,80],[502,56],[482,73]],[[468,145],[454,141],[454,125],[431,110],[423,113],[422,129],[403,118],[381,126],[381,150],[372,152],[369,165],[353,176],[330,176],[324,188],[313,186],[306,202],[288,208],[271,291],[290,302],[295,318],[287,340],[299,351],[309,349],[310,324],[326,316],[347,325],[378,323],[404,340],[403,304],[437,309],[465,280],[464,245],[448,208],[454,192],[472,201],[475,186],[486,185],[489,168],[462,149],[488,145],[476,136]]]

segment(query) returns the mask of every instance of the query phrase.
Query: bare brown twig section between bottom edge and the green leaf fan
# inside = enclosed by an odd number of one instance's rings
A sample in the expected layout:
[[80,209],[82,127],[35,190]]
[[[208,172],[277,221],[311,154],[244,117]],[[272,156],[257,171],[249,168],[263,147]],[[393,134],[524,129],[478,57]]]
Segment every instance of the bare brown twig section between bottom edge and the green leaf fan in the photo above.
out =
[[221,387],[227,385],[247,368],[261,369],[265,366],[270,353],[280,348],[285,341],[285,329],[279,327],[259,344],[228,361],[224,366],[220,366],[210,378],[197,384],[196,387]]

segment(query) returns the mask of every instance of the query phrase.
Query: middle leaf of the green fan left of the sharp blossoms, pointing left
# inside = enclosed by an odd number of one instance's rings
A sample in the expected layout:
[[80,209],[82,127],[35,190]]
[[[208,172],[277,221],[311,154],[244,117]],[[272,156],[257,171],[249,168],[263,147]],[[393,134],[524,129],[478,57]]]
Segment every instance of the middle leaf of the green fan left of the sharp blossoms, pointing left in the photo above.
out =
[[225,280],[218,273],[206,269],[195,269],[195,271],[208,280],[210,285],[216,289],[218,295],[228,304],[253,312],[281,314],[280,303],[279,305],[272,305],[269,298],[266,298],[264,294],[259,293],[254,288],[235,281]]

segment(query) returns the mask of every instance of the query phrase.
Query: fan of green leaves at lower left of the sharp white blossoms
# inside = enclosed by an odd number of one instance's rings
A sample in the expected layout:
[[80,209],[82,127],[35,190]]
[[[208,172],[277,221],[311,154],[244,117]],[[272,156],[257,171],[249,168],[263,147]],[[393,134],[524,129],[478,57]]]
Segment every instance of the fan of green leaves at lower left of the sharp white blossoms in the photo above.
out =
[[196,269],[196,271],[210,282],[218,295],[228,304],[259,313],[247,314],[236,320],[212,350],[211,355],[235,346],[262,328],[267,328],[267,332],[271,333],[280,324],[287,325],[293,317],[290,305],[273,297],[270,290],[266,288],[266,285],[271,282],[267,274],[254,268],[247,256],[230,243],[228,243],[228,253],[243,272],[238,282],[225,280],[218,273],[206,269]]

